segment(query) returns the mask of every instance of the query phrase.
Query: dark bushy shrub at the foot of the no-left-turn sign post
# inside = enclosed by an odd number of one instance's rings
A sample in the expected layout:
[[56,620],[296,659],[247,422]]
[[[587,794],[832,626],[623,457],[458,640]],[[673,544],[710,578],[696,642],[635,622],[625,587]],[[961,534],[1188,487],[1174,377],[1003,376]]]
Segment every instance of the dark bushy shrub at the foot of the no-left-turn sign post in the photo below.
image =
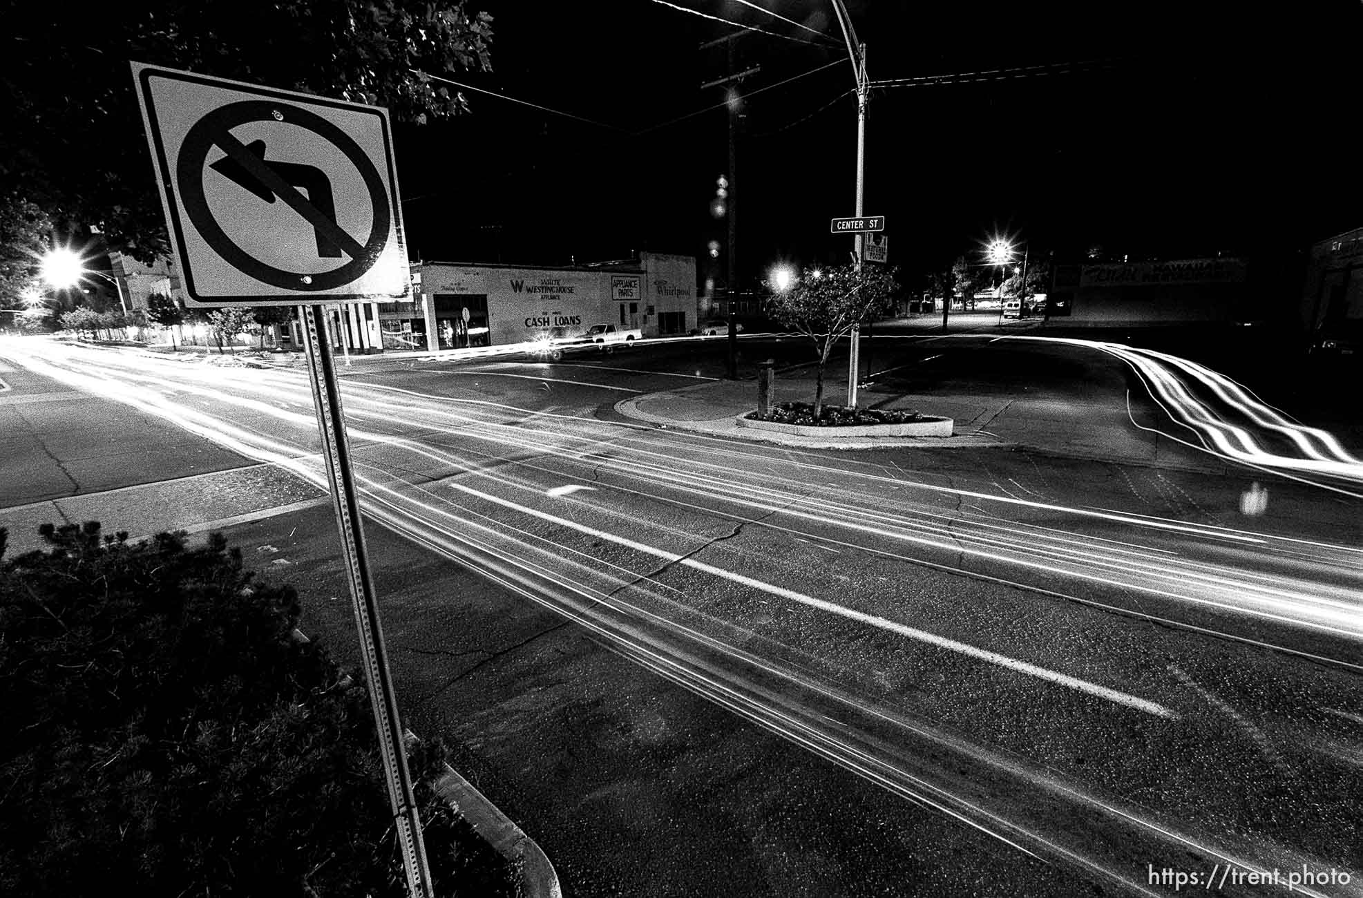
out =
[[0,566],[0,894],[403,894],[365,687],[297,638],[294,591],[217,534],[42,533]]

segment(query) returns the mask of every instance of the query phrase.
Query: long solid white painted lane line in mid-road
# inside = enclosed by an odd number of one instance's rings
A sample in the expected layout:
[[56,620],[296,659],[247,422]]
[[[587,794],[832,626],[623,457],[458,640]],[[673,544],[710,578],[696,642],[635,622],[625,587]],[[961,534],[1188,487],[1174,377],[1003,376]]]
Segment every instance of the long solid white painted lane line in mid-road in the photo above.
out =
[[1003,654],[999,654],[996,651],[990,651],[987,649],[979,649],[976,646],[970,646],[970,645],[966,645],[964,642],[957,642],[955,639],[949,639],[946,636],[939,636],[936,634],[930,634],[930,632],[927,632],[924,630],[917,630],[916,627],[909,627],[906,624],[901,624],[901,623],[897,623],[897,621],[893,621],[893,620],[889,620],[889,619],[885,619],[885,617],[878,617],[875,615],[867,615],[864,612],[853,610],[851,608],[845,608],[842,605],[837,605],[834,602],[829,602],[829,601],[825,601],[822,598],[814,598],[812,595],[806,595],[803,593],[796,593],[795,590],[785,589],[784,586],[776,586],[774,583],[767,583],[765,580],[758,580],[758,579],[754,579],[751,576],[744,576],[743,574],[736,574],[733,571],[728,571],[728,570],[724,570],[724,568],[720,568],[720,567],[714,567],[711,564],[705,564],[703,561],[698,561],[698,560],[695,560],[692,557],[688,557],[688,556],[677,555],[676,552],[668,552],[665,549],[658,549],[658,548],[654,548],[652,545],[646,545],[643,542],[635,542],[634,540],[628,540],[626,537],[619,537],[619,536],[616,536],[613,533],[607,533],[604,530],[597,530],[596,527],[589,527],[586,525],[577,523],[575,521],[568,521],[566,518],[559,518],[557,515],[551,515],[548,512],[538,511],[536,508],[530,508],[530,507],[522,506],[519,503],[514,503],[514,501],[511,501],[508,499],[500,499],[497,496],[492,496],[492,495],[480,492],[477,489],[472,489],[469,486],[465,486],[463,484],[450,484],[450,488],[451,489],[457,489],[459,492],[463,492],[463,493],[466,493],[469,496],[474,496],[477,499],[483,499],[483,500],[491,501],[493,504],[499,504],[499,506],[503,506],[506,508],[511,508],[514,511],[519,511],[519,512],[530,515],[533,518],[540,518],[541,521],[548,521],[548,522],[555,523],[557,526],[568,527],[571,530],[577,530],[578,533],[583,533],[586,536],[596,537],[598,540],[605,540],[608,542],[615,542],[616,545],[623,545],[626,548],[634,549],[635,552],[642,552],[645,555],[653,555],[653,556],[664,559],[664,560],[667,560],[667,561],[669,561],[672,564],[683,564],[686,567],[691,567],[691,568],[702,571],[705,574],[710,574],[713,576],[718,576],[718,578],[731,580],[733,583],[739,583],[741,586],[747,586],[750,589],[761,590],[761,591],[771,594],[771,595],[778,595],[781,598],[786,598],[786,600],[797,602],[800,605],[806,605],[806,606],[810,606],[810,608],[816,608],[819,610],[823,610],[823,612],[827,612],[827,613],[831,613],[831,615],[837,615],[837,616],[841,616],[841,617],[846,617],[846,619],[855,620],[857,623],[863,623],[863,624],[868,624],[868,625],[872,625],[872,627],[878,627],[880,630],[887,630],[887,631],[898,634],[901,636],[906,636],[906,638],[915,639],[917,642],[924,642],[924,643],[935,646],[938,649],[946,649],[947,651],[955,651],[957,654],[964,654],[964,655],[966,655],[969,658],[975,658],[977,661],[985,661],[985,662],[990,662],[990,664],[995,664],[998,666],[1006,668],[1006,669],[1013,670],[1015,673],[1025,673],[1028,676],[1033,676],[1033,677],[1037,677],[1040,680],[1045,680],[1048,683],[1055,683],[1058,685],[1065,685],[1065,687],[1069,687],[1069,688],[1071,688],[1071,690],[1074,690],[1077,692],[1084,692],[1084,694],[1088,694],[1088,695],[1103,698],[1103,699],[1107,699],[1108,702],[1114,702],[1116,705],[1122,705],[1122,706],[1126,706],[1126,707],[1130,707],[1130,709],[1134,709],[1134,710],[1138,710],[1138,711],[1144,711],[1144,713],[1152,714],[1154,717],[1163,717],[1163,718],[1175,718],[1176,717],[1176,714],[1172,710],[1169,710],[1168,707],[1165,707],[1163,705],[1159,705],[1157,702],[1150,702],[1148,699],[1142,699],[1142,698],[1134,696],[1134,695],[1129,695],[1126,692],[1120,692],[1118,690],[1112,690],[1112,688],[1108,688],[1108,687],[1104,687],[1104,685],[1099,685],[1096,683],[1089,683],[1088,680],[1081,680],[1078,677],[1073,677],[1073,676],[1069,676],[1066,673],[1060,673],[1058,670],[1051,670],[1048,668],[1041,668],[1039,665],[1029,664],[1026,661],[1020,661],[1017,658],[1011,658],[1009,655],[1003,655]]

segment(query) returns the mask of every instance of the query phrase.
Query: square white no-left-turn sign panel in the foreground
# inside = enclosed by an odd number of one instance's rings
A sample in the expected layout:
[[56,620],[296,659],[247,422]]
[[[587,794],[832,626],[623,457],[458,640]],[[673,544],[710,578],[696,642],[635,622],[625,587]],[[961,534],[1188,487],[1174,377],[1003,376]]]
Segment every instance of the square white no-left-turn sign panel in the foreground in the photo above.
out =
[[410,293],[388,110],[132,63],[187,305]]

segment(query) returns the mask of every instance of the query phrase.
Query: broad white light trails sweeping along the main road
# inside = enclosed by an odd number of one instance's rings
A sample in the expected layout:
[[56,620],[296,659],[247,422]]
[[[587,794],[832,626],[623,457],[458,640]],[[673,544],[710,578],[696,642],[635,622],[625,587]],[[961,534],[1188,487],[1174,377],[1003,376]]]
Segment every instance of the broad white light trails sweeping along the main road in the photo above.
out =
[[[23,361],[327,486],[312,450],[316,420],[294,410],[305,405],[301,373],[161,360],[129,364],[68,352]],[[1255,869],[1296,856],[1262,834],[1212,835],[1186,809],[1139,809],[1099,785],[964,740],[927,706],[871,685],[868,675],[882,662],[848,672],[821,640],[769,635],[747,609],[780,600],[782,617],[793,620],[791,609],[800,606],[841,621],[838,639],[860,640],[861,631],[872,630],[880,634],[876,639],[916,643],[915,653],[955,655],[935,664],[970,677],[980,676],[981,665],[996,668],[998,676],[1014,677],[1000,681],[1000,700],[1037,703],[1039,715],[1054,714],[1078,729],[1120,719],[1122,728],[1157,741],[1194,724],[1184,719],[1182,702],[1153,700],[1060,664],[1029,661],[1040,646],[1024,635],[980,634],[977,645],[942,621],[910,623],[912,612],[860,590],[833,593],[827,583],[801,579],[803,567],[785,563],[788,555],[804,553],[797,546],[777,542],[766,556],[737,551],[705,522],[789,542],[799,534],[905,571],[950,567],[987,576],[988,566],[1002,564],[1011,578],[1052,595],[1059,594],[1056,585],[1116,590],[1108,600],[1114,602],[1138,593],[1167,602],[1169,615],[1204,606],[1223,620],[1329,632],[1344,646],[1363,639],[1363,556],[1356,546],[1000,496],[909,473],[895,477],[880,473],[882,466],[660,435],[649,427],[489,399],[349,379],[342,388],[367,515],[895,794],[1138,894],[1152,893],[1131,872],[1131,858],[1097,849],[1088,838],[1094,820],[1109,833],[1126,833],[1131,852],[1141,846],[1152,857],[1172,857],[1169,846],[1176,845]],[[237,414],[249,424],[232,420]],[[965,507],[966,499],[988,511]],[[686,518],[650,511],[660,507]],[[1096,526],[1120,527],[1120,538],[1086,529]],[[744,572],[755,563],[763,575]],[[682,578],[680,571],[699,579]],[[887,651],[909,651],[890,645]],[[1156,666],[1149,676],[1165,672]],[[1051,688],[1059,694],[1044,692]],[[1066,691],[1074,698],[1060,695]],[[935,760],[940,752],[954,760]],[[962,778],[960,766],[981,771],[980,778]],[[1067,808],[1063,819],[1029,808],[1028,796],[1037,789]]]

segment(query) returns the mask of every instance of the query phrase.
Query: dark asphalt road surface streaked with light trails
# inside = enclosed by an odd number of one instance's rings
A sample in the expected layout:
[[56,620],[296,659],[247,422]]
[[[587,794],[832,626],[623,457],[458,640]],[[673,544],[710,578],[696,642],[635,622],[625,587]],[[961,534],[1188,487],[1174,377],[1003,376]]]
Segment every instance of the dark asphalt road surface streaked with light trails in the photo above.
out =
[[[1085,409],[1075,433],[1169,413],[1085,347],[942,349],[878,341],[872,395],[1040,398]],[[767,356],[801,358],[746,342]],[[300,372],[7,357],[324,482]],[[1174,894],[1164,869],[1274,894],[1250,875],[1303,865],[1353,878],[1303,894],[1363,894],[1358,499],[1193,451],[1073,458],[1063,428],[840,454],[612,410],[721,371],[710,341],[345,376],[413,719],[459,737],[571,894]],[[339,639],[328,523],[243,536]]]

